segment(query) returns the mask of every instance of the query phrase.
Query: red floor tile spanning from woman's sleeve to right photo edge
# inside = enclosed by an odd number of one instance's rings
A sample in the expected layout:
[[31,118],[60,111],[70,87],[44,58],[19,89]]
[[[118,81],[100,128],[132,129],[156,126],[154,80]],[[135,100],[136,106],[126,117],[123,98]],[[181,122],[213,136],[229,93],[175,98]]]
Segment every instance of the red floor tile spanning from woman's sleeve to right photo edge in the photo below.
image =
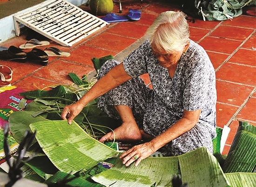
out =
[[[231,76],[232,75],[232,76]],[[249,67],[239,64],[226,62],[219,71],[216,72],[216,78],[235,83],[256,85],[256,67]]]

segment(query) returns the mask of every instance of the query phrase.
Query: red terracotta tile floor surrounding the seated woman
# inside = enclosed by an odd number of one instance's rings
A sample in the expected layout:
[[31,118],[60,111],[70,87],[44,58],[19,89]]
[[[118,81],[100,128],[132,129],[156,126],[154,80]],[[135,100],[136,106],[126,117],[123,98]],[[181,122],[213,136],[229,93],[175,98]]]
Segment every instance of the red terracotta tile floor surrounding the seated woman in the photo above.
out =
[[[135,42],[140,41],[147,28],[161,12],[178,10],[178,6],[165,0],[122,0],[114,3],[113,13],[127,15],[128,10],[141,10],[139,21],[115,22],[89,35],[72,47],[64,47],[53,41],[51,46],[70,52],[67,58],[50,57],[47,66],[30,62],[1,61],[0,64],[13,68],[12,85],[23,90],[43,89],[53,84],[71,84],[68,73],[79,77],[94,71],[91,58],[109,54],[120,55]],[[90,13],[89,7],[82,9]],[[241,15],[232,20],[189,22],[191,39],[208,52],[216,70],[217,126],[231,128],[222,152],[226,155],[236,133],[238,121],[256,125],[256,17]],[[9,39],[0,46],[20,46],[25,36]],[[44,49],[42,47],[42,49]],[[147,76],[143,76],[149,82]]]

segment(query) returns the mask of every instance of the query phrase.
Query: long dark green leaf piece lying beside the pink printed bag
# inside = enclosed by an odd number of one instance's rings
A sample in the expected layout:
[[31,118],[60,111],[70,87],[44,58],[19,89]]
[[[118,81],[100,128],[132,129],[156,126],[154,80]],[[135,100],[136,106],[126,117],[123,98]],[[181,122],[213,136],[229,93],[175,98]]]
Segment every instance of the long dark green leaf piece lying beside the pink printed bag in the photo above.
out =
[[66,93],[64,86],[58,85],[52,90],[33,90],[25,91],[20,93],[20,96],[24,96],[27,99],[38,99],[38,98],[61,98]]

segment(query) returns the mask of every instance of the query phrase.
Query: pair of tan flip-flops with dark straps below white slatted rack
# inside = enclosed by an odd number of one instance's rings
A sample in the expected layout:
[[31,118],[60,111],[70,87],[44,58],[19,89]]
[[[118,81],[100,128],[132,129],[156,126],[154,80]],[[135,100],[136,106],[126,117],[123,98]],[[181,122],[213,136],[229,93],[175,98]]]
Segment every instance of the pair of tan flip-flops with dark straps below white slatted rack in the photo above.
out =
[[[20,45],[19,48],[20,49],[33,49],[35,47],[41,47],[41,46],[46,46],[46,45],[50,45],[50,42],[39,41],[37,39],[31,39],[31,40],[27,41],[25,44]],[[37,50],[37,53],[38,52],[39,52],[39,50]],[[49,57],[69,57],[70,56],[69,52],[62,52],[61,50],[59,50],[56,47],[47,47],[44,49],[44,52]]]

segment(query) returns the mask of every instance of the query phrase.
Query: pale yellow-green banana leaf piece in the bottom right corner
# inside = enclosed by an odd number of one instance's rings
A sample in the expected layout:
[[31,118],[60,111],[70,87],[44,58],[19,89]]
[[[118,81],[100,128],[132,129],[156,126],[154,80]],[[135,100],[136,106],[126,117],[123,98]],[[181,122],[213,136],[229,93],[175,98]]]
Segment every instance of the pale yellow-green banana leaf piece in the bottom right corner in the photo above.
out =
[[231,187],[254,187],[256,173],[229,173],[225,174]]

